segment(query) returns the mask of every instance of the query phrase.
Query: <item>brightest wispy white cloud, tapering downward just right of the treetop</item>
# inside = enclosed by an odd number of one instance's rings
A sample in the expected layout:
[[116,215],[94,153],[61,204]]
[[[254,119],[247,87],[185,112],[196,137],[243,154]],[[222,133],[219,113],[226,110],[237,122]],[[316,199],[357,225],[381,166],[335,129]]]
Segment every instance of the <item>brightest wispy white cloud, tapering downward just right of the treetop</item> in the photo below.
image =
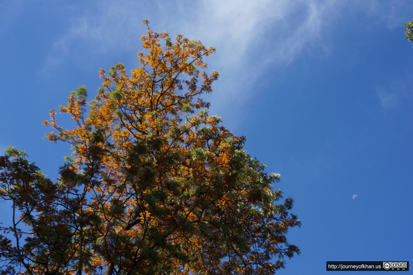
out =
[[254,85],[266,72],[285,69],[314,48],[322,57],[329,54],[323,31],[342,5],[335,1],[233,0],[205,1],[197,8],[203,12],[194,22],[176,22],[175,26],[184,26],[185,34],[201,36],[205,44],[216,46],[214,68],[218,65],[221,79],[215,86],[220,92],[211,96],[212,112],[230,110],[226,117],[234,117],[230,121],[234,124],[241,123],[239,115],[245,115],[250,98],[259,96]]

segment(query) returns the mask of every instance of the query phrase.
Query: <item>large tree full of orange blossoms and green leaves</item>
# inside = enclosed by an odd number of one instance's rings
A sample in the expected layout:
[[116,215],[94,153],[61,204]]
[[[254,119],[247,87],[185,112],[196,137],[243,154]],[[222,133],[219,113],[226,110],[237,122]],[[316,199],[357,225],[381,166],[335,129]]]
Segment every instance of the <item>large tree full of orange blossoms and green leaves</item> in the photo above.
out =
[[59,106],[76,128],[59,126],[55,110],[43,122],[73,148],[57,182],[24,151],[0,158],[14,214],[1,227],[2,274],[273,274],[300,253],[285,237],[300,225],[294,201],[277,204],[272,187],[280,175],[195,100],[218,79],[199,72],[215,49],[144,24],[148,53],[131,77],[122,64],[101,69],[95,99],[81,86]]

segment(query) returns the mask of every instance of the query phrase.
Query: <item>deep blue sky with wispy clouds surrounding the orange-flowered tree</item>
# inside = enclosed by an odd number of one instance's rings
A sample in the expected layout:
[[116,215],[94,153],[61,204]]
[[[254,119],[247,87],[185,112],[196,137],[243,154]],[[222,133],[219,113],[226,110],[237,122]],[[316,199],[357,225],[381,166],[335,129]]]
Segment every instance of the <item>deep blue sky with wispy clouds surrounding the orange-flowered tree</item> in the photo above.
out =
[[413,261],[412,11],[397,0],[3,0],[0,146],[56,178],[69,146],[42,139],[41,122],[79,85],[92,96],[101,67],[137,67],[146,18],[216,47],[210,114],[247,136],[246,150],[281,174],[274,188],[295,199],[302,227],[287,238],[302,253],[277,274]]

